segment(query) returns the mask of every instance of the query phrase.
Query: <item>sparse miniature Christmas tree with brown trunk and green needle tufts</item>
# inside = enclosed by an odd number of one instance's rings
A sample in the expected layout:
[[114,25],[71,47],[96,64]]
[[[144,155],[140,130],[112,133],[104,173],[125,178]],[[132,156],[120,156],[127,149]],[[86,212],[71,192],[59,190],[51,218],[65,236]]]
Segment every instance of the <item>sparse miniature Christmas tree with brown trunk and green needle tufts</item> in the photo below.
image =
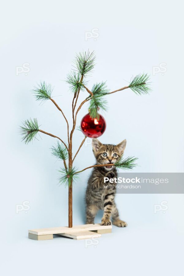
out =
[[[71,71],[71,73],[67,75],[66,82],[70,85],[70,89],[74,94],[73,101],[72,101],[73,124],[70,131],[69,131],[69,124],[68,124],[67,118],[63,113],[63,110],[57,105],[57,103],[52,98],[52,90],[53,90],[52,86],[50,84],[46,84],[45,82],[40,82],[40,85],[38,87],[35,87],[33,90],[33,94],[36,100],[41,102],[50,100],[56,106],[56,108],[59,109],[59,111],[62,113],[62,116],[64,117],[64,120],[66,121],[66,124],[67,124],[67,142],[66,143],[58,136],[55,136],[51,133],[41,130],[39,128],[37,119],[35,118],[33,120],[32,119],[25,120],[23,122],[23,125],[21,126],[21,134],[23,136],[22,140],[25,142],[25,144],[28,144],[34,138],[36,138],[36,135],[38,132],[57,138],[60,141],[60,142],[59,141],[57,142],[56,146],[52,147],[52,154],[57,158],[63,160],[64,167],[60,171],[61,177],[59,181],[61,183],[67,183],[68,185],[68,227],[69,228],[72,227],[72,183],[75,177],[82,171],[85,171],[86,169],[89,169],[89,168],[101,167],[101,166],[112,166],[112,164],[93,165],[93,166],[84,168],[80,171],[77,171],[73,166],[74,159],[76,158],[80,148],[84,144],[85,139],[87,137],[85,136],[85,138],[82,140],[82,143],[79,146],[78,151],[75,153],[74,157],[72,157],[72,136],[76,129],[77,115],[79,113],[79,110],[81,109],[82,105],[84,105],[86,102],[89,102],[90,104],[89,117],[91,118],[91,121],[96,122],[98,124],[101,117],[99,114],[99,109],[102,109],[102,110],[106,109],[106,100],[104,98],[105,96],[113,94],[118,91],[128,89],[128,88],[130,88],[137,95],[149,94],[149,92],[151,91],[149,82],[148,82],[149,76],[147,74],[136,75],[134,78],[132,78],[128,86],[114,90],[112,92],[109,92],[105,82],[96,83],[93,85],[92,89],[89,90],[89,88],[87,87],[86,79],[89,76],[89,74],[93,71],[94,65],[95,65],[94,52],[90,53],[88,51],[88,52],[79,53],[75,58],[75,70]],[[82,90],[86,91],[88,93],[88,96],[80,103],[79,107],[77,108],[79,93]],[[86,132],[84,130],[83,130],[83,133],[86,135]],[[98,135],[94,137],[97,137],[97,136]],[[137,158],[135,157],[128,157],[126,159],[123,159],[123,156],[121,156],[121,158],[113,165],[116,166],[117,168],[130,170],[136,166],[136,163],[135,163],[136,159]]]

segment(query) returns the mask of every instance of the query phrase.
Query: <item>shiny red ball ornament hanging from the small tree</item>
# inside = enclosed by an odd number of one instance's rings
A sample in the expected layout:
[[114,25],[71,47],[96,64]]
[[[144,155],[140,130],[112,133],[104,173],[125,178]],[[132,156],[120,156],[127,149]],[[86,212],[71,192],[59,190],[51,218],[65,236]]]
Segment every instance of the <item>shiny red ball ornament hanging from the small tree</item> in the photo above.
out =
[[99,120],[97,118],[90,118],[90,113],[86,114],[81,121],[81,130],[85,136],[91,138],[100,137],[106,128],[105,119],[100,115]]

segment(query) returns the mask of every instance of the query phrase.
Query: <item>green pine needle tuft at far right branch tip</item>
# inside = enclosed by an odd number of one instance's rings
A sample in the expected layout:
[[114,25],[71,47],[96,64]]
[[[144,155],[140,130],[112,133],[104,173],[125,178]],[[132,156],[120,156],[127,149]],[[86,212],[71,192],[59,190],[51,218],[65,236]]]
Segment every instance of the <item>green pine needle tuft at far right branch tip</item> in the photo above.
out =
[[149,94],[151,92],[149,79],[150,75],[145,73],[136,75],[128,87],[137,95]]

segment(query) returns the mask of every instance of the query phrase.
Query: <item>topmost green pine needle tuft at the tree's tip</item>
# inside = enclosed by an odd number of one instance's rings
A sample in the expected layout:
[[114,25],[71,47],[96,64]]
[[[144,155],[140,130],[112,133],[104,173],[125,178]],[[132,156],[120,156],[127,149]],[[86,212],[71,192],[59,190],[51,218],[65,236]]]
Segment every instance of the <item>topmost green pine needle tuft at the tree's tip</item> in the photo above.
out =
[[75,58],[75,68],[81,75],[87,75],[90,72],[92,72],[94,68],[94,63],[95,61],[95,56],[94,52],[90,53],[89,51],[87,52],[82,52],[77,54]]

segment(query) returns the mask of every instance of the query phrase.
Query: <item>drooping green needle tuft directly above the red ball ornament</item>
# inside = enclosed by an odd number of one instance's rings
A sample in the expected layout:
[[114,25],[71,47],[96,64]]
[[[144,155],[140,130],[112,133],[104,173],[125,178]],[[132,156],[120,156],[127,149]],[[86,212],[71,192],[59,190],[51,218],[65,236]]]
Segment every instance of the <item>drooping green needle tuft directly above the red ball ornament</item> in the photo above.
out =
[[90,100],[90,106],[89,106],[89,111],[90,111],[90,117],[91,118],[97,118],[97,120],[99,120],[99,113],[98,110],[99,109],[102,110],[106,110],[107,108],[107,101],[104,100],[102,97],[97,96],[93,96]]

